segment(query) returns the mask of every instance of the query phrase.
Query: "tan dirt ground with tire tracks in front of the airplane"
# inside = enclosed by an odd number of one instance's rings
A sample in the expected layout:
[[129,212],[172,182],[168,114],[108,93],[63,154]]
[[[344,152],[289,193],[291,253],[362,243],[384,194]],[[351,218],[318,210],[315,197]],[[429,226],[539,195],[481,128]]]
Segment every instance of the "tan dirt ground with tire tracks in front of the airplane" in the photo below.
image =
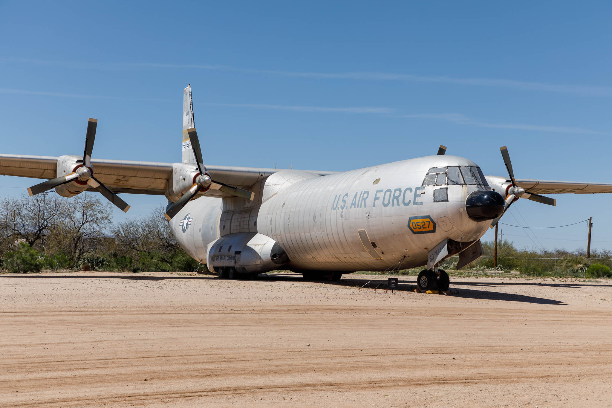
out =
[[260,276],[0,275],[0,406],[612,405],[612,280]]

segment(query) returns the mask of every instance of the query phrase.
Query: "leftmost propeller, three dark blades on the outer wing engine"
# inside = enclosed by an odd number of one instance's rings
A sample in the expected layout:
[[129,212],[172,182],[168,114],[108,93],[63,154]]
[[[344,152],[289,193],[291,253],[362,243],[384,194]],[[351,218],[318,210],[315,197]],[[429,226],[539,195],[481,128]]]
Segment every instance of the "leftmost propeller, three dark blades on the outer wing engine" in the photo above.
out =
[[130,209],[130,206],[127,204],[127,202],[119,198],[116,193],[113,193],[110,188],[103,185],[100,180],[94,177],[94,173],[91,167],[91,152],[94,150],[95,128],[97,127],[97,125],[98,120],[92,119],[90,117],[89,121],[87,122],[87,133],[85,134],[83,166],[76,168],[75,171],[70,174],[67,174],[66,176],[56,177],[54,179],[47,180],[40,184],[29,187],[28,193],[30,196],[43,193],[44,191],[59,187],[62,184],[67,184],[72,181],[78,180],[89,184],[95,191],[101,193],[103,196],[106,197],[106,199],[108,199],[108,201],[119,207],[119,209],[121,209],[123,212],[127,212],[127,210]]

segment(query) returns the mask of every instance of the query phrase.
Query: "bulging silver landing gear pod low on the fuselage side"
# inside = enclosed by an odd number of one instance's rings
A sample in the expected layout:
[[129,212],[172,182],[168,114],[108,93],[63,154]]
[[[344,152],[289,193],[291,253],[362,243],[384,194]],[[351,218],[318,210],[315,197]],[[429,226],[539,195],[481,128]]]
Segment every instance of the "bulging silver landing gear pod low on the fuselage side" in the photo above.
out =
[[237,232],[211,242],[206,251],[208,269],[234,267],[236,272],[269,272],[289,262],[278,242],[257,232]]

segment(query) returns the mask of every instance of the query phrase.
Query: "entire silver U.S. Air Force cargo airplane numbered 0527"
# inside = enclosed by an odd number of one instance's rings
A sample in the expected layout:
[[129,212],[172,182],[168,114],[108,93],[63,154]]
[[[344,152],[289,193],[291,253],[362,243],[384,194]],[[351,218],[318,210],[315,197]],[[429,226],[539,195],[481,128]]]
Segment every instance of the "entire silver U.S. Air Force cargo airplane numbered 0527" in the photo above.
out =
[[[119,209],[119,193],[165,195],[165,217],[181,247],[219,278],[254,278],[286,269],[305,280],[340,280],[358,270],[424,267],[420,291],[449,289],[440,262],[457,269],[483,254],[480,238],[519,198],[550,206],[542,194],[612,193],[612,184],[485,176],[474,161],[438,154],[351,171],[204,166],[191,85],[183,91],[182,161],[91,158],[97,121],[83,155],[0,155],[0,174],[47,181],[64,197],[98,191]],[[94,176],[95,174],[95,176]]]

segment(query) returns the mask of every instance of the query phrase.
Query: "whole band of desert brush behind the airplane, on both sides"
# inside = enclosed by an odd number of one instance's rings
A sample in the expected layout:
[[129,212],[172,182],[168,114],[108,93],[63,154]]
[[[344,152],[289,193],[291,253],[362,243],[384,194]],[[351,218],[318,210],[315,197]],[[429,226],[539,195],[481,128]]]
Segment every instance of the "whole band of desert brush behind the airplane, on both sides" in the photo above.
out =
[[[179,272],[206,270],[176,243],[163,207],[149,215],[112,222],[111,205],[93,195],[62,198],[53,191],[34,197],[0,201],[0,269],[6,272],[39,270],[115,270]],[[483,242],[484,255],[457,271],[457,257],[442,269],[463,275],[519,272],[528,276],[575,278],[612,277],[612,251],[520,250],[499,242],[498,265],[493,267],[493,242]],[[417,275],[421,269],[387,271]],[[377,272],[378,273],[378,272]]]

